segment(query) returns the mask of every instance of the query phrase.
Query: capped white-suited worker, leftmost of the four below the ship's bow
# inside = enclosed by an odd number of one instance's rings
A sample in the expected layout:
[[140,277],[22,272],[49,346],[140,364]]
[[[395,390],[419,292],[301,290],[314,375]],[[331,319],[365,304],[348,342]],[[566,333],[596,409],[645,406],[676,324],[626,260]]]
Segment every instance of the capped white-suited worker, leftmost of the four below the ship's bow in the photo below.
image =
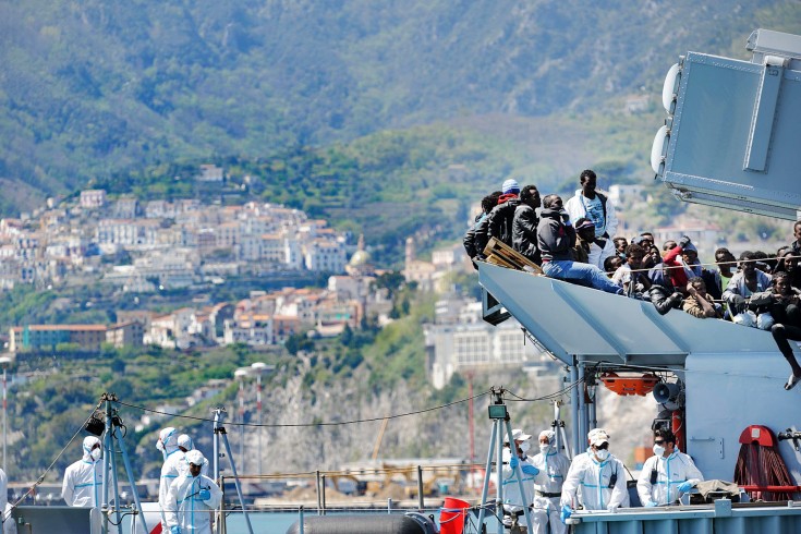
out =
[[[503,524],[512,524],[512,515],[522,518],[525,512],[523,508],[530,507],[534,498],[534,477],[539,470],[531,463],[531,458],[526,454],[531,439],[531,435],[523,433],[522,429],[512,430],[512,439],[514,440],[514,453],[509,449],[509,438],[503,440],[503,470],[501,471],[503,484]],[[520,477],[520,478],[519,478]],[[524,495],[520,495],[520,484],[523,483]],[[525,521],[518,520],[519,523]]]

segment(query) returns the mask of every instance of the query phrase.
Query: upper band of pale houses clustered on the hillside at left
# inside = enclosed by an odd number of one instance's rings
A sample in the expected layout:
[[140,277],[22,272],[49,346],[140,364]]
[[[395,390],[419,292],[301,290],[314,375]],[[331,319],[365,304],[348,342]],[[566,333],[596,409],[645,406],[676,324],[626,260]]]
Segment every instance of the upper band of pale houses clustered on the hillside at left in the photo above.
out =
[[[219,174],[213,167],[203,172]],[[342,274],[347,265],[343,234],[269,203],[139,203],[89,190],[48,206],[33,218],[0,220],[0,289],[92,275],[125,292],[147,292],[203,284],[208,277]]]

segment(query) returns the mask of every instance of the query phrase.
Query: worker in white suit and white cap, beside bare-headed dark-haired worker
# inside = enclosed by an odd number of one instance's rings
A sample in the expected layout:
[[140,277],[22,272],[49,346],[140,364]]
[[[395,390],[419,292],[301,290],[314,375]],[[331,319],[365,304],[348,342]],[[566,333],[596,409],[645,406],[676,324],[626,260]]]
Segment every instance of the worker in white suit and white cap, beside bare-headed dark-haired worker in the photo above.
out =
[[[573,458],[562,485],[562,522],[573,513],[577,503],[584,510],[614,510],[629,506],[626,466],[609,452],[609,434],[603,428],[593,428],[587,434],[587,441],[590,447]],[[577,497],[580,487],[581,494]]]

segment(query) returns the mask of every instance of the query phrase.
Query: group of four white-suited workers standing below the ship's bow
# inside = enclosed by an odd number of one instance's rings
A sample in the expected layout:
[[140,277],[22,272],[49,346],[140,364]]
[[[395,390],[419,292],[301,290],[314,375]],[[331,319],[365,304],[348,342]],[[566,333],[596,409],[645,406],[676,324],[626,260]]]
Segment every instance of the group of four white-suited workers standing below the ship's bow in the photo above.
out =
[[[681,452],[667,427],[654,430],[654,456],[643,464],[636,483],[640,505],[645,508],[675,505],[703,482],[692,459]],[[626,466],[609,451],[609,434],[594,428],[587,434],[585,452],[571,462],[557,449],[554,430],[539,433],[539,452],[529,456],[531,435],[512,430],[514,450],[503,444],[503,523],[525,524],[526,509],[533,534],[565,534],[573,511],[615,510],[632,505]],[[522,493],[521,493],[522,488]]]

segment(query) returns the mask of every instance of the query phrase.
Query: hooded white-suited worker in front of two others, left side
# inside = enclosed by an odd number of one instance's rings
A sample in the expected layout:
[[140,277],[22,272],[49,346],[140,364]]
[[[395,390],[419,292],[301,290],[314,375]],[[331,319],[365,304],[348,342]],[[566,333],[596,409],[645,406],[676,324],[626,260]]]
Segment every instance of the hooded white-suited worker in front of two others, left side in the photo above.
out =
[[201,469],[208,463],[199,450],[186,452],[190,471],[175,478],[167,493],[167,525],[170,534],[211,534],[211,513],[222,491]]

